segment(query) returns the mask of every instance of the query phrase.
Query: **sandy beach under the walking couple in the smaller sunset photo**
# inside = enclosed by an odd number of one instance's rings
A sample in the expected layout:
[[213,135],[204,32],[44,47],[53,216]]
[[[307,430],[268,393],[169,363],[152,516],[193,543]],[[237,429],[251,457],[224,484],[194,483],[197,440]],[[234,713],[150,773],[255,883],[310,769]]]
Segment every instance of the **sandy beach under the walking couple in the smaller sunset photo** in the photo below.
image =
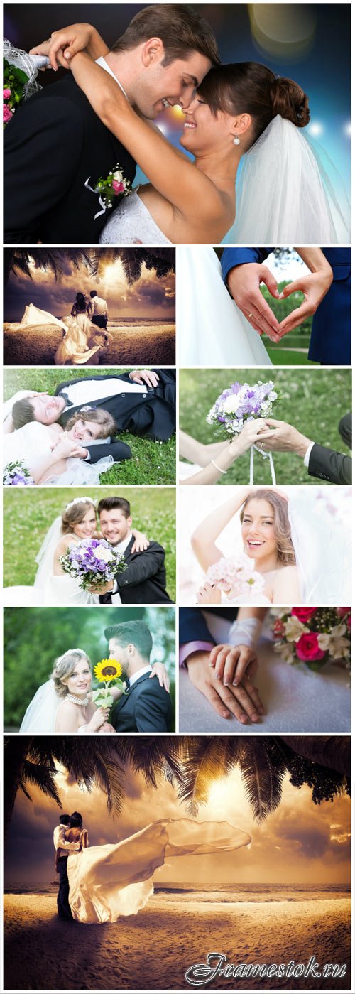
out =
[[[107,325],[113,336],[108,347],[96,352],[88,366],[174,366],[175,325],[121,323]],[[4,324],[5,366],[54,366],[54,357],[63,337],[55,324],[21,326]],[[97,358],[98,357],[98,358]]]

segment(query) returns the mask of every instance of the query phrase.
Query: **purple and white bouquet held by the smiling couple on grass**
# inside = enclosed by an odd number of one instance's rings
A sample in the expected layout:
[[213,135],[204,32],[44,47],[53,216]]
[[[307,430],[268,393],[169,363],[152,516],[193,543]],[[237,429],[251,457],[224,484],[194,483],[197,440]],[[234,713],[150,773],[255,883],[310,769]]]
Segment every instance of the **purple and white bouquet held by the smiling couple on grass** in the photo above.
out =
[[60,556],[60,563],[65,573],[80,580],[83,590],[104,586],[127,566],[123,553],[112,549],[104,539],[82,539]]

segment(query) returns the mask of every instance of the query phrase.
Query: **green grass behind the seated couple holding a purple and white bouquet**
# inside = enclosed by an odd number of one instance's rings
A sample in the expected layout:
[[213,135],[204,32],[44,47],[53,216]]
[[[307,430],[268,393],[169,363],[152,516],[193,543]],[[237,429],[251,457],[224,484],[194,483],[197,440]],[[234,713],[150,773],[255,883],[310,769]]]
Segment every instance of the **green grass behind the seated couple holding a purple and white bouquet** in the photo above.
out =
[[[4,586],[33,584],[36,556],[52,522],[69,501],[86,492],[74,488],[4,490]],[[115,492],[117,496],[121,493]],[[92,487],[89,495],[99,500],[111,496],[112,491]],[[175,488],[127,488],[121,496],[131,503],[133,528],[145,532],[165,549],[167,589],[175,600]]]

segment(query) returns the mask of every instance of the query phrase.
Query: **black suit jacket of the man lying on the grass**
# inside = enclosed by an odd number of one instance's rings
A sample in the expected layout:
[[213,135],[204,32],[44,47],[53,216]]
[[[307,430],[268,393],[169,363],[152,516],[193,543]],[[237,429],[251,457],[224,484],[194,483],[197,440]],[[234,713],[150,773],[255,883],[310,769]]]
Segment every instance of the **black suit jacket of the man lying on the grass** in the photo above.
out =
[[[147,438],[159,438],[166,441],[175,431],[176,425],[176,372],[175,370],[154,370],[159,376],[157,387],[152,390],[147,388],[143,394],[118,394],[113,397],[105,397],[102,401],[88,401],[88,407],[101,408],[108,411],[114,417],[118,431],[130,431],[131,434],[145,436]],[[95,375],[88,377],[92,380],[123,380],[124,383],[131,383],[128,373],[107,374],[103,376]],[[83,383],[83,379],[68,380],[61,383],[56,388],[55,396],[61,394],[67,387],[74,384]],[[65,411],[60,418],[60,424],[66,426],[73,414],[81,411],[83,405],[71,407]],[[110,451],[110,449],[108,449]],[[107,454],[107,447],[104,452]]]

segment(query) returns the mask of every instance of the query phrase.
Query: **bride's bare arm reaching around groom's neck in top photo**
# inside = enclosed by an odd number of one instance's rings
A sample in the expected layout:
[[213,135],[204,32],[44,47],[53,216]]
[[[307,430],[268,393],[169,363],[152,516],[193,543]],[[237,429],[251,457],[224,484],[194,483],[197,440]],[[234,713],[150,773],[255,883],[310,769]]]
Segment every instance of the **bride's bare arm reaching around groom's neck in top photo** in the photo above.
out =
[[85,53],[71,60],[74,78],[109,131],[138,162],[156,190],[195,223],[221,217],[221,197],[207,176],[176,151],[155,128],[138,116],[117,83]]

